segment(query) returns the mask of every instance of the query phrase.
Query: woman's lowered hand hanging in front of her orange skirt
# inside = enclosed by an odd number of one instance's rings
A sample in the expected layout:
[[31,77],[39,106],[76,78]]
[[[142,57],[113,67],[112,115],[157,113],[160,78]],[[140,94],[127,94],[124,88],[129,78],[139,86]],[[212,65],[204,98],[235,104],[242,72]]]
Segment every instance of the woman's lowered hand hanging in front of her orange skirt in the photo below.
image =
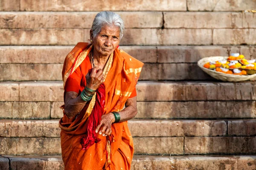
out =
[[113,113],[108,113],[102,115],[102,119],[100,121],[100,124],[96,127],[95,132],[102,136],[109,136],[112,133],[111,125],[115,122],[115,116]]

